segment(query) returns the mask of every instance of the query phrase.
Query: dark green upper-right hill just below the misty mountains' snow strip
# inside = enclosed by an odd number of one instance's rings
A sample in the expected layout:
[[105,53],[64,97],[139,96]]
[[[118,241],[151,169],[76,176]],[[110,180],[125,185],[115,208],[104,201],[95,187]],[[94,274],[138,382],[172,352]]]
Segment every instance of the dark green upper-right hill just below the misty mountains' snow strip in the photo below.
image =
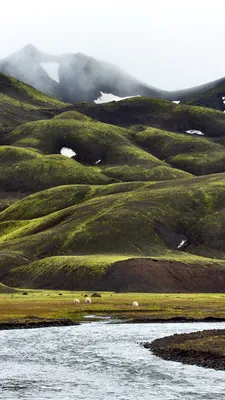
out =
[[225,114],[204,107],[190,107],[161,99],[136,97],[107,104],[78,104],[71,108],[99,121],[139,127],[152,126],[168,131],[185,133],[202,131],[205,136],[224,136]]

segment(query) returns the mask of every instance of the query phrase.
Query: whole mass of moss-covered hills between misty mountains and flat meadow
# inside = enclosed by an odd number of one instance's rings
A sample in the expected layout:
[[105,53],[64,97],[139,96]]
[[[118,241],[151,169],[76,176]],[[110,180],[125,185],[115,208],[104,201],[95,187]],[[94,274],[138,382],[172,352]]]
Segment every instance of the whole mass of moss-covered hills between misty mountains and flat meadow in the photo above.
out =
[[0,282],[225,291],[223,113],[66,105],[5,76],[1,87]]

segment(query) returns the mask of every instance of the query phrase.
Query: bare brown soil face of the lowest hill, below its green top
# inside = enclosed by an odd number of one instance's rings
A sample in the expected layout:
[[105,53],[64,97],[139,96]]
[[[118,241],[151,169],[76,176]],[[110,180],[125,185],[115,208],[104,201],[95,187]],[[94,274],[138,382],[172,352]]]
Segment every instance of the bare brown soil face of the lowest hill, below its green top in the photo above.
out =
[[[83,267],[84,269],[85,267]],[[5,284],[14,287],[64,290],[106,290],[136,292],[225,292],[225,269],[218,266],[188,265],[181,262],[130,259],[109,267],[101,277],[80,269],[62,268],[52,274],[17,270],[2,276]],[[84,272],[84,271],[82,271]],[[68,275],[69,274],[69,275]]]

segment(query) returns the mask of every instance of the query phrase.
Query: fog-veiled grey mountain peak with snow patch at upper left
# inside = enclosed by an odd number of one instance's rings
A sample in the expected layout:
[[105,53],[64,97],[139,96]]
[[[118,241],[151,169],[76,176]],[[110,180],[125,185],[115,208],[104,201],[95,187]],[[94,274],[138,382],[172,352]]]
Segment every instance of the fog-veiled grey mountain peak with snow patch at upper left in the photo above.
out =
[[81,53],[55,56],[29,44],[0,61],[0,71],[68,103],[94,101],[101,92],[162,97],[119,68]]

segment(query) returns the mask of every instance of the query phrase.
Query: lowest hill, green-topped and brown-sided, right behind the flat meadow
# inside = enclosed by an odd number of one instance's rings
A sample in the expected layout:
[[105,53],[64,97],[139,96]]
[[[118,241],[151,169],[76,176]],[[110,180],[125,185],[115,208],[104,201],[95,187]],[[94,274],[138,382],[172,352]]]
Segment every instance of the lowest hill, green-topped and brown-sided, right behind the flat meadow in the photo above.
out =
[[[172,253],[172,252],[171,252]],[[160,258],[125,255],[47,257],[8,269],[4,283],[14,287],[116,292],[224,292],[225,263],[194,255]],[[178,259],[178,257],[177,257]],[[190,276],[192,279],[190,280]]]

